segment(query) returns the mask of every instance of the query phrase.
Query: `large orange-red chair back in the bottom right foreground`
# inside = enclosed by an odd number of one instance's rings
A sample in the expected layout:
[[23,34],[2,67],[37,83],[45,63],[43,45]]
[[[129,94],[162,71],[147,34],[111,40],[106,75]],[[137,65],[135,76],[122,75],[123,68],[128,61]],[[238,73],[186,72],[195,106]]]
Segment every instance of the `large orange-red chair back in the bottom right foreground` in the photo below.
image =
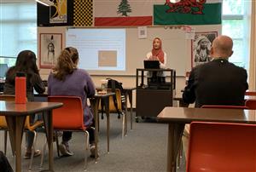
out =
[[191,123],[187,171],[256,171],[255,145],[255,124]]

